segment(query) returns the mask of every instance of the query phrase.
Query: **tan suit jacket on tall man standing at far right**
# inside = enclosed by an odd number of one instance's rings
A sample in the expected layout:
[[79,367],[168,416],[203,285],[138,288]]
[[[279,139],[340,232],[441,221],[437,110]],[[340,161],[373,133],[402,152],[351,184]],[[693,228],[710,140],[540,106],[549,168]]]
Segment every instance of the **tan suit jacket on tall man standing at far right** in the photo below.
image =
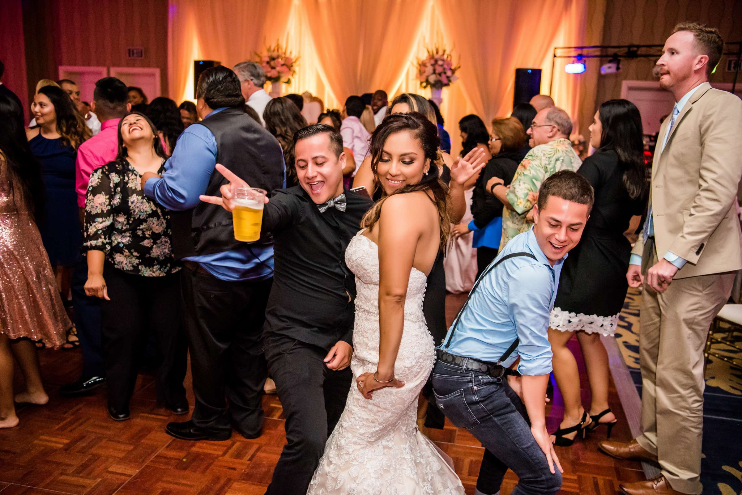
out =
[[[649,201],[657,257],[687,260],[675,279],[742,269],[742,233],[736,215],[742,178],[742,100],[705,82],[677,115],[660,127]],[[632,253],[646,260],[640,234]],[[643,263],[645,266],[646,263]]]

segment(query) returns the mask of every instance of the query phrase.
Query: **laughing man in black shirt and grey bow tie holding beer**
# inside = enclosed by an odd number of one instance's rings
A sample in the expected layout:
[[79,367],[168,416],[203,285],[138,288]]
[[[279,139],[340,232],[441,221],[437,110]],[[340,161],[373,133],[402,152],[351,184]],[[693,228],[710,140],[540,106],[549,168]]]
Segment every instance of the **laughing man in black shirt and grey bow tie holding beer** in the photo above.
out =
[[[313,124],[294,135],[299,185],[277,190],[263,209],[263,233],[275,237],[275,282],[266,310],[264,344],[286,416],[286,445],[268,495],[304,495],[340,419],[352,382],[355,276],[345,249],[372,202],[343,188],[343,138]],[[234,208],[240,174],[221,196],[203,201]],[[252,182],[247,182],[252,186]]]

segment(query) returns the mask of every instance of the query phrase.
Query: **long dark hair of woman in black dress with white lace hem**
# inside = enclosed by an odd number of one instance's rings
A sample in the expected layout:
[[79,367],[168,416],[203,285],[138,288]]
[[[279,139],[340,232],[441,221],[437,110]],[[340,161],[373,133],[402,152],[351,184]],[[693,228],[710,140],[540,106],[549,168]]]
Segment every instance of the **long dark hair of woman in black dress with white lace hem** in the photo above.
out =
[[614,150],[623,166],[623,185],[628,197],[640,199],[646,193],[646,166],[642,118],[639,109],[625,99],[608,100],[598,109],[603,132],[599,151]]

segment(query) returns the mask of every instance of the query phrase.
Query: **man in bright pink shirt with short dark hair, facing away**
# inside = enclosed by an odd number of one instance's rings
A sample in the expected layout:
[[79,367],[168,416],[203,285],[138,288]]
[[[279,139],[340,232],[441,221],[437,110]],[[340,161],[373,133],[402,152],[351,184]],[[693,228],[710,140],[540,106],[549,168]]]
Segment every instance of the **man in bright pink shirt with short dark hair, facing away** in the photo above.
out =
[[[119,147],[119,120],[131,105],[126,99],[126,84],[115,77],[105,77],[95,83],[91,110],[101,121],[101,130],[77,149],[76,184],[77,205],[82,218],[85,194],[91,173],[116,159]],[[100,342],[100,299],[85,295],[88,280],[88,259],[78,254],[72,274],[72,304],[75,310],[75,327],[82,350],[82,373],[79,379],[62,386],[62,396],[77,396],[88,393],[105,383],[103,351]]]

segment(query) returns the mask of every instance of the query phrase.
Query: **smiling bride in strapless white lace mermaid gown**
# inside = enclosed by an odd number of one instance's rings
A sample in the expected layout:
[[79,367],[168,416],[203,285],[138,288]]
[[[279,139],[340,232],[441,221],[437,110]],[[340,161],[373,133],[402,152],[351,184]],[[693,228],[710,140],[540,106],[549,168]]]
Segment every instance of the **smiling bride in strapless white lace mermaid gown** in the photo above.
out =
[[[308,495],[464,494],[416,424],[418,395],[436,361],[422,313],[426,278],[450,233],[437,150],[436,126],[419,113],[388,116],[372,136],[372,170],[390,196],[367,213],[367,228],[345,253],[357,288],[355,386]],[[452,173],[484,165],[478,154],[467,160]]]

